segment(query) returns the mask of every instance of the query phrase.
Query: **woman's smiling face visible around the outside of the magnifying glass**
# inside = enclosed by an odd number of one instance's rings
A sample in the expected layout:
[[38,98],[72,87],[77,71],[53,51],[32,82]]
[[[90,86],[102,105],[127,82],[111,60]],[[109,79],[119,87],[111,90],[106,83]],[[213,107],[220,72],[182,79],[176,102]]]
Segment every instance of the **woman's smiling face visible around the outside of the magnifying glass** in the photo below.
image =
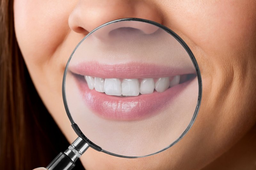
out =
[[[90,148],[81,161],[86,169],[199,169],[255,124],[255,7],[253,1],[15,0],[14,24],[36,89],[70,143],[77,135],[65,112],[61,86],[77,43],[95,27],[119,18],[149,19],[176,32],[195,55],[203,83],[201,108],[188,134],[154,156],[125,159]],[[102,56],[95,60],[109,61]],[[110,64],[123,61],[117,57]]]

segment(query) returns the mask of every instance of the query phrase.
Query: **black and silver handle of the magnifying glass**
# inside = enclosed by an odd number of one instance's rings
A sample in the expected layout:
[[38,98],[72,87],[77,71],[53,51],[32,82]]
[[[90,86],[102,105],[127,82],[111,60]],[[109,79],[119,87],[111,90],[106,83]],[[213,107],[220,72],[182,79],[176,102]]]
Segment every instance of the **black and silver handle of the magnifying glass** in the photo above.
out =
[[65,152],[60,152],[56,158],[46,167],[48,170],[70,170],[75,167],[75,162],[89,148],[89,144],[81,137],[68,147]]

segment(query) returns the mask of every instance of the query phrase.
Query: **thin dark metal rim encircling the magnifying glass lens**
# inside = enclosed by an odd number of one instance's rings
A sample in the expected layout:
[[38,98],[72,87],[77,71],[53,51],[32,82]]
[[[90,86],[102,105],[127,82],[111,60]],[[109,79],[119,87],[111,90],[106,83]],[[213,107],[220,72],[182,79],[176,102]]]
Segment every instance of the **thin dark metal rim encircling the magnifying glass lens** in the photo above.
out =
[[[198,99],[197,99],[197,104],[196,104],[196,109],[195,109],[195,112],[194,112],[194,115],[190,121],[190,123],[188,124],[187,128],[184,130],[184,132],[180,135],[179,138],[177,138],[174,142],[172,142],[169,146],[165,147],[164,149],[158,151],[158,152],[155,152],[155,153],[152,153],[152,154],[149,154],[149,155],[145,155],[145,156],[123,156],[123,155],[118,155],[118,154],[115,154],[115,153],[111,153],[111,152],[108,152],[108,151],[105,151],[103,150],[102,148],[100,148],[99,146],[97,146],[96,144],[94,144],[92,141],[90,141],[84,134],[83,132],[79,129],[79,127],[76,125],[76,123],[74,122],[70,112],[69,112],[69,108],[68,108],[68,103],[67,103],[67,100],[66,100],[66,92],[65,92],[65,88],[66,88],[66,75],[67,75],[67,70],[68,70],[68,64],[70,62],[70,59],[72,58],[74,52],[76,51],[76,48],[84,41],[84,39],[89,36],[90,34],[92,34],[94,31],[96,31],[97,29],[103,27],[103,26],[106,26],[106,25],[109,25],[109,24],[112,24],[112,23],[116,23],[116,22],[120,22],[120,21],[138,21],[138,22],[145,22],[145,23],[148,23],[148,24],[152,24],[152,25],[155,25],[155,26],[158,26],[159,28],[162,28],[164,31],[166,31],[167,33],[171,34],[177,41],[180,42],[180,44],[183,46],[183,48],[186,49],[188,55],[190,56],[190,59],[192,60],[193,64],[194,64],[194,67],[196,69],[196,75],[197,75],[197,80],[198,80]],[[174,33],[172,30],[170,30],[169,28],[167,28],[166,26],[163,26],[157,22],[154,22],[154,21],[150,21],[150,20],[147,20],[147,19],[142,19],[142,18],[123,18],[123,19],[116,19],[116,20],[113,20],[113,21],[109,21],[105,24],[102,24],[100,26],[98,26],[97,28],[95,28],[94,30],[92,30],[90,33],[88,33],[76,46],[76,48],[74,49],[74,51],[72,52],[72,54],[70,55],[69,59],[68,59],[68,63],[66,65],[66,68],[65,68],[65,71],[64,71],[64,75],[63,75],[63,81],[62,81],[62,98],[63,98],[63,102],[64,102],[64,106],[65,106],[65,109],[66,109],[66,112],[67,112],[67,115],[68,115],[68,118],[71,122],[71,125],[73,127],[73,129],[76,131],[76,134],[80,137],[82,137],[92,148],[96,149],[97,151],[101,151],[101,152],[104,152],[104,153],[107,153],[109,155],[113,155],[113,156],[117,156],[117,157],[123,157],[123,158],[142,158],[142,157],[147,157],[147,156],[151,156],[151,155],[155,155],[157,153],[160,153],[160,152],[163,152],[165,151],[166,149],[172,147],[174,144],[176,144],[177,142],[180,141],[180,139],[182,139],[189,131],[189,129],[192,127],[192,125],[194,124],[195,120],[196,120],[196,116],[198,114],[198,111],[199,111],[199,108],[200,108],[200,105],[201,105],[201,100],[202,100],[202,78],[201,78],[201,73],[200,73],[200,70],[199,70],[199,67],[198,67],[198,64],[196,62],[196,58],[195,56],[193,55],[192,51],[190,50],[190,48],[188,47],[188,45],[180,38],[180,36],[178,36],[176,33]]]

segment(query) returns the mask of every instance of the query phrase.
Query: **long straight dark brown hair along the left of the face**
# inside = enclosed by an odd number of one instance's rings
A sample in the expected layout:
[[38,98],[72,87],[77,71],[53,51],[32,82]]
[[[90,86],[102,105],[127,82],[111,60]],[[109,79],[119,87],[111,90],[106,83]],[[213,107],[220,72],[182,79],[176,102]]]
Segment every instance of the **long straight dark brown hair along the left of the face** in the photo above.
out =
[[[47,166],[68,147],[31,81],[14,32],[13,0],[0,4],[0,167]],[[81,166],[81,164],[79,163]]]

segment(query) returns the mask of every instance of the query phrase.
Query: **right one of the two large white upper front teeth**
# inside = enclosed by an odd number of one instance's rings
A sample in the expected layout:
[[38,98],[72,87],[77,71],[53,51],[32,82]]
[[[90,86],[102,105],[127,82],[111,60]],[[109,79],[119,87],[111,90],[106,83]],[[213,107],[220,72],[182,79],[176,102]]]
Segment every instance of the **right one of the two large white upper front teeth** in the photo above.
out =
[[138,96],[140,94],[140,82],[138,79],[123,79],[122,95],[123,96]]

